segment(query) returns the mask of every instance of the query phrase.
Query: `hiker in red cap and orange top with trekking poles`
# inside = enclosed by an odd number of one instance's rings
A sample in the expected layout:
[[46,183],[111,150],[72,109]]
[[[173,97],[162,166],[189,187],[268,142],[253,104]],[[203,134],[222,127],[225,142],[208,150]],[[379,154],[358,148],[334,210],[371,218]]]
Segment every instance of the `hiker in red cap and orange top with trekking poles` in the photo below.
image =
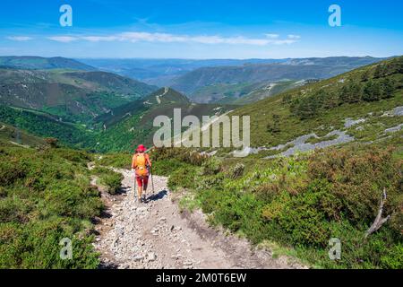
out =
[[150,156],[145,153],[146,148],[144,145],[140,144],[136,153],[133,155],[132,169],[135,170],[135,176],[137,181],[137,201],[141,203],[142,192],[147,190],[147,185],[149,183],[149,175],[151,168]]

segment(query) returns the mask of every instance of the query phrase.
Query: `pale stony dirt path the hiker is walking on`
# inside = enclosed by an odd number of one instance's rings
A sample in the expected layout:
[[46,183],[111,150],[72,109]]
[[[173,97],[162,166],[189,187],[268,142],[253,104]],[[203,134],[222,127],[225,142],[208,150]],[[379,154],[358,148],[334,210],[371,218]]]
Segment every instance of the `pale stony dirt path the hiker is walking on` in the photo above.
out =
[[123,193],[103,194],[107,212],[97,224],[95,246],[106,268],[301,268],[286,257],[273,259],[244,239],[211,229],[201,212],[180,213],[167,178],[154,176],[155,194],[137,204],[133,172],[124,175]]

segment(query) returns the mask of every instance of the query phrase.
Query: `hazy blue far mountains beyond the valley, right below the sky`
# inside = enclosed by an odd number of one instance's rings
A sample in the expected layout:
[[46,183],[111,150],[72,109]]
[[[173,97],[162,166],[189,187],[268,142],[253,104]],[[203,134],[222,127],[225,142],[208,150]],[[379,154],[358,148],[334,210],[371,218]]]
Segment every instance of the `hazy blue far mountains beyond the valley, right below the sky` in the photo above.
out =
[[[201,103],[242,104],[381,61],[375,57],[245,60],[81,59],[100,70],[170,86]],[[268,87],[276,86],[276,89]],[[254,94],[251,97],[251,94]],[[259,96],[256,96],[256,95]],[[247,99],[244,99],[247,97]]]

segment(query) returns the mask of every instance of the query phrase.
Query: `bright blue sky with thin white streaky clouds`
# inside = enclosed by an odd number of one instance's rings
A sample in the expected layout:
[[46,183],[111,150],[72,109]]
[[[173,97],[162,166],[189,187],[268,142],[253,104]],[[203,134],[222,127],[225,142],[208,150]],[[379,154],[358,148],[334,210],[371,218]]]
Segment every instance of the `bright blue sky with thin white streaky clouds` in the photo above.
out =
[[[73,26],[61,27],[70,4]],[[341,27],[330,27],[330,4]],[[0,55],[284,58],[402,55],[397,0],[35,0],[0,3]]]

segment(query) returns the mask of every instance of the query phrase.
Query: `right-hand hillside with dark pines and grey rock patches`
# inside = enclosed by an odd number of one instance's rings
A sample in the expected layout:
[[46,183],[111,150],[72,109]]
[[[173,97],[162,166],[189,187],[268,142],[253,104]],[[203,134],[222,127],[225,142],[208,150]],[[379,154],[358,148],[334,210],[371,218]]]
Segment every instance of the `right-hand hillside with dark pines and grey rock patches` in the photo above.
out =
[[353,138],[373,142],[388,137],[390,128],[399,132],[403,124],[402,83],[399,57],[286,91],[231,115],[251,116],[253,152],[261,156],[295,152],[295,145],[314,148]]

